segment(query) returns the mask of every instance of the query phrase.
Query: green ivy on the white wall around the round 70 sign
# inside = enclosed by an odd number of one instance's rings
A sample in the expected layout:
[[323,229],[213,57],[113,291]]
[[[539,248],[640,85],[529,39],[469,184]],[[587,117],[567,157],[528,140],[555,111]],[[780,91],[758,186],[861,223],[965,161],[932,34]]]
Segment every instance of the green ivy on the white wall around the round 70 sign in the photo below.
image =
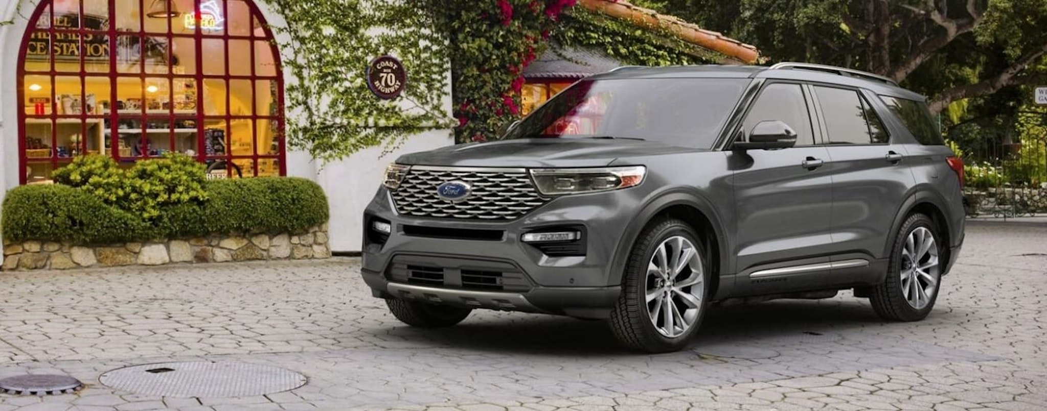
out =
[[[449,129],[443,104],[450,70],[443,32],[410,0],[265,0],[285,20],[273,26],[284,66],[287,141],[320,160],[362,149],[398,147],[425,129]],[[403,94],[382,100],[367,89],[367,63],[397,56]]]

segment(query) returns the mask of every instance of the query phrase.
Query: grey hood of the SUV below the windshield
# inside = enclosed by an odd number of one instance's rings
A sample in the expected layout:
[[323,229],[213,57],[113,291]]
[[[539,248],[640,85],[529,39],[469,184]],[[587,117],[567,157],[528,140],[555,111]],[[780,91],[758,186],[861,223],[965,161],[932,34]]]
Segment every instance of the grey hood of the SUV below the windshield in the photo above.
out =
[[652,141],[593,138],[529,138],[455,144],[401,156],[413,165],[468,167],[598,167],[622,158],[693,152]]

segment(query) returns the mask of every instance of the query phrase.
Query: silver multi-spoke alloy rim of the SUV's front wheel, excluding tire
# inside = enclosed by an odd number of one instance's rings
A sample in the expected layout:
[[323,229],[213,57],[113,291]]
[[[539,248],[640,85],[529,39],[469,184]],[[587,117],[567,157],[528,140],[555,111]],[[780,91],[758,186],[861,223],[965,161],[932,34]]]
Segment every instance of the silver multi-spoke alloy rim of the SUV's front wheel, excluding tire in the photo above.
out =
[[675,338],[700,318],[705,273],[701,255],[687,238],[662,242],[647,265],[647,314],[659,334]]

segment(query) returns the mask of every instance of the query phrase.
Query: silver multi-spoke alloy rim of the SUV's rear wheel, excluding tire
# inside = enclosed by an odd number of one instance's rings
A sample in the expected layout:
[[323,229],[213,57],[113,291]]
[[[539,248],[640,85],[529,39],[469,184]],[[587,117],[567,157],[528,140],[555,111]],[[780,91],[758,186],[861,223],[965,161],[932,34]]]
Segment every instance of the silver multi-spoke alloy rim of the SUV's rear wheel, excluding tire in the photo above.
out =
[[938,291],[938,245],[926,227],[909,233],[901,247],[901,295],[913,309],[922,310]]

